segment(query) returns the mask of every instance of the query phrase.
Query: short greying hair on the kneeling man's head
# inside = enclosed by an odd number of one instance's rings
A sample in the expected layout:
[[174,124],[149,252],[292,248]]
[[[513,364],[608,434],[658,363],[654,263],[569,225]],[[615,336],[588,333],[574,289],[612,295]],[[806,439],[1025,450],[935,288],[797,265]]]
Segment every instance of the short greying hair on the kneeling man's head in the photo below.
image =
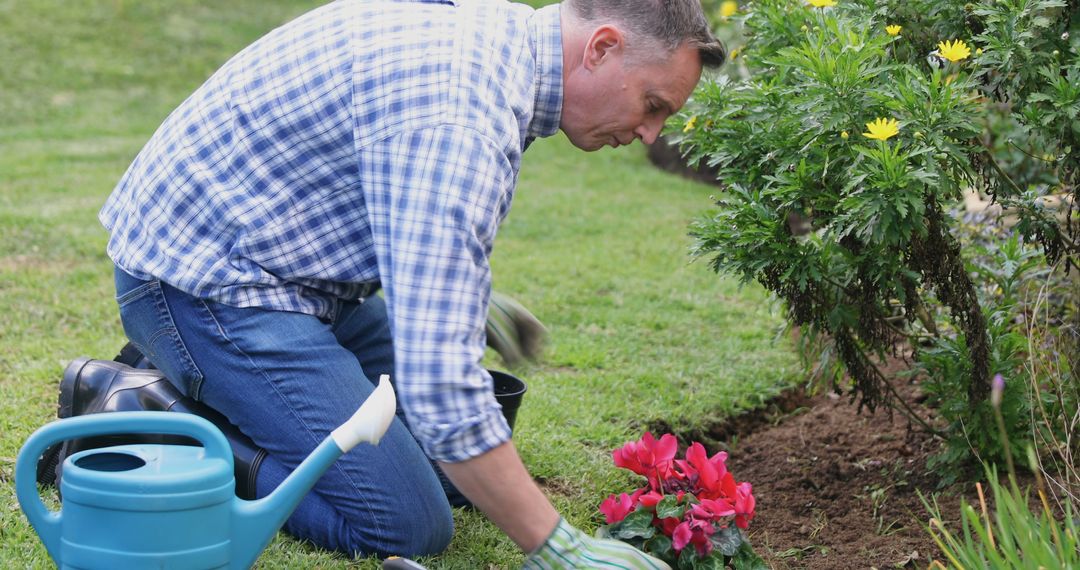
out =
[[697,48],[704,67],[727,60],[727,50],[713,36],[700,0],[564,0],[563,5],[582,22],[619,24],[631,38],[644,38],[666,53],[684,44]]

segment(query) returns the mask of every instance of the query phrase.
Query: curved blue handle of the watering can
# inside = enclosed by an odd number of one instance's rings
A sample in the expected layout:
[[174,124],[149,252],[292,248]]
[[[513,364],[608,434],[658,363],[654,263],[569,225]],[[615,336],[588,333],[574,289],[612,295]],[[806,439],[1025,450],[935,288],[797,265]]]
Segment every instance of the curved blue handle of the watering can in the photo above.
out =
[[56,443],[118,433],[186,435],[202,443],[206,456],[220,458],[232,471],[232,448],[213,423],[190,413],[167,411],[117,411],[91,413],[54,421],[30,434],[15,460],[15,493],[26,518],[41,537],[54,560],[59,558],[60,513],[41,502],[37,487],[38,458]]

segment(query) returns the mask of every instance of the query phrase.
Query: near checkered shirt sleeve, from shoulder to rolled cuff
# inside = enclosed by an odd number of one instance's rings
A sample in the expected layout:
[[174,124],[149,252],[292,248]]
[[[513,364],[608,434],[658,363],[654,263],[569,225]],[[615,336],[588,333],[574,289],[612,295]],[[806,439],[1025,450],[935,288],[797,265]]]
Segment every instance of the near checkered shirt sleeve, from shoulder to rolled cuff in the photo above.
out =
[[510,438],[484,356],[488,257],[515,172],[478,132],[408,131],[360,155],[394,339],[394,385],[429,457],[459,462]]

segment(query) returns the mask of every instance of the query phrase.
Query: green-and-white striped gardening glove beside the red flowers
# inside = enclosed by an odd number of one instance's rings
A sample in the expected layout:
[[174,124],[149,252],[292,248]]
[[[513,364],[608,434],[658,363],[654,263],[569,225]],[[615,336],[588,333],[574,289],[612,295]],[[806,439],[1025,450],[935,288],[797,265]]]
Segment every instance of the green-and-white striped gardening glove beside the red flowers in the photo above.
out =
[[633,568],[671,570],[657,558],[626,544],[609,539],[594,539],[573,528],[565,518],[539,548],[525,559],[523,570],[551,568]]

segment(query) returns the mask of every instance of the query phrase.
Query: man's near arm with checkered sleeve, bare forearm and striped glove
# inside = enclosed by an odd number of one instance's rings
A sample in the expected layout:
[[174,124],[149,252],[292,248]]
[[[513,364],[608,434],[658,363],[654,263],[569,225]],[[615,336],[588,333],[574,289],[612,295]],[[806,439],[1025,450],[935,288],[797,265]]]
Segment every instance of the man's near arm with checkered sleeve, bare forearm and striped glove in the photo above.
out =
[[366,149],[365,199],[394,337],[399,402],[450,480],[526,553],[527,568],[666,568],[563,520],[532,481],[481,366],[488,256],[515,173],[458,125]]

